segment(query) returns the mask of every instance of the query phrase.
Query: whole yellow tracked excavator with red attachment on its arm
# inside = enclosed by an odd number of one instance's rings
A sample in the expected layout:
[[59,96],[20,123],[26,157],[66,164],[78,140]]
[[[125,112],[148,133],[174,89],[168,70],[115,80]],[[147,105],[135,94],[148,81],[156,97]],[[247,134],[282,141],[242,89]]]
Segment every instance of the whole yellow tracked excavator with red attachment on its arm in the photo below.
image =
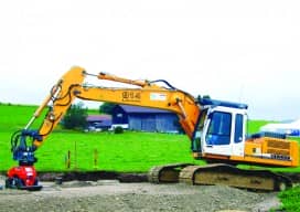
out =
[[[97,77],[126,84],[128,87],[92,86],[86,77]],[[270,167],[298,167],[299,146],[285,135],[258,132],[247,136],[247,105],[195,98],[164,80],[133,81],[115,75],[89,74],[75,66],[52,87],[50,95],[36,109],[28,125],[13,134],[12,155],[18,167],[8,171],[7,187],[39,190],[34,151],[43,144],[63,118],[74,99],[109,102],[125,105],[160,108],[175,113],[191,139],[195,159],[205,166],[175,163],[157,166],[149,171],[150,182],[188,182],[191,184],[227,184],[257,190],[282,190],[292,186],[289,177],[268,170],[245,170],[239,163]],[[47,108],[41,127],[30,129]]]

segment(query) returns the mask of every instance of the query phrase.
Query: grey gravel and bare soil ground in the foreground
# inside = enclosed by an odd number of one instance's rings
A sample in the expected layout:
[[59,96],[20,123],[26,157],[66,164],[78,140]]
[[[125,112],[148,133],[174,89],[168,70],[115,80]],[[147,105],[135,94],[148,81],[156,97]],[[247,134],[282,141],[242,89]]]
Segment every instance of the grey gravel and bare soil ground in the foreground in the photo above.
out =
[[[72,176],[72,174],[71,174]],[[73,173],[74,177],[76,174]],[[128,177],[129,176],[129,177]],[[0,211],[269,211],[280,202],[276,192],[251,192],[222,186],[150,184],[119,182],[118,179],[144,181],[143,174],[110,176],[109,180],[89,181],[57,173],[41,174],[36,192],[0,190]],[[109,177],[109,178],[110,178]],[[114,179],[115,178],[115,179]],[[138,179],[138,180],[137,180]],[[4,177],[0,177],[3,186]],[[57,184],[63,180],[62,184]],[[129,180],[130,181],[130,180]]]

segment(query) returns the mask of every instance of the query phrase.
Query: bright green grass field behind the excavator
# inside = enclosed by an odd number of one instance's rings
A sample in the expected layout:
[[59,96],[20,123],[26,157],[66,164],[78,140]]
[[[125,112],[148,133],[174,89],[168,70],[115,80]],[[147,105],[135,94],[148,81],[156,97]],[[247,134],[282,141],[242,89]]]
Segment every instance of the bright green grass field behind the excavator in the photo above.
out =
[[[15,162],[11,159],[10,137],[22,129],[36,106],[0,105],[0,170],[6,171]],[[93,112],[95,113],[95,112]],[[43,115],[41,116],[43,117]],[[251,120],[249,132],[258,131],[265,120]],[[35,123],[33,128],[38,128]],[[126,131],[81,132],[56,128],[36,151],[38,170],[64,171],[71,152],[71,169],[147,171],[156,165],[169,162],[194,162],[190,153],[190,140],[185,135]],[[96,159],[96,160],[95,160]],[[280,169],[282,170],[282,169]],[[283,169],[294,171],[296,169]],[[300,171],[300,169],[297,169]]]

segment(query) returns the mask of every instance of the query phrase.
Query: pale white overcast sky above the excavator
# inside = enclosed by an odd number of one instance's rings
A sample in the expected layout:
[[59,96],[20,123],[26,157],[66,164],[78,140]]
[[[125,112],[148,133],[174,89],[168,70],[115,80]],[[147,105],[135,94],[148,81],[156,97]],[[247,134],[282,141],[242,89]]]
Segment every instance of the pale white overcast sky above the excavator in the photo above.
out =
[[0,1],[0,102],[40,104],[73,65],[163,78],[300,117],[300,1]]

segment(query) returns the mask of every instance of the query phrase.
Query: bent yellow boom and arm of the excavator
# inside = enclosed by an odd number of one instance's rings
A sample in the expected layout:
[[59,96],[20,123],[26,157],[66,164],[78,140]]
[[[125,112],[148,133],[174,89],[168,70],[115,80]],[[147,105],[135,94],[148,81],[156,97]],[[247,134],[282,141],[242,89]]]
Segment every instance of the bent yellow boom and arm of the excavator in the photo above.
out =
[[60,123],[74,99],[87,99],[95,102],[109,102],[125,105],[135,105],[143,107],[153,107],[173,112],[179,115],[180,123],[189,137],[192,139],[195,125],[200,114],[193,96],[174,87],[162,87],[151,82],[132,81],[114,75],[100,73],[99,80],[114,81],[135,85],[138,87],[103,87],[87,86],[84,80],[86,71],[81,67],[73,67],[57,82],[52,88],[51,95],[36,109],[33,118],[38,117],[49,103],[52,103],[46,118],[39,129],[42,139],[35,139],[34,146],[39,147],[46,136]]

